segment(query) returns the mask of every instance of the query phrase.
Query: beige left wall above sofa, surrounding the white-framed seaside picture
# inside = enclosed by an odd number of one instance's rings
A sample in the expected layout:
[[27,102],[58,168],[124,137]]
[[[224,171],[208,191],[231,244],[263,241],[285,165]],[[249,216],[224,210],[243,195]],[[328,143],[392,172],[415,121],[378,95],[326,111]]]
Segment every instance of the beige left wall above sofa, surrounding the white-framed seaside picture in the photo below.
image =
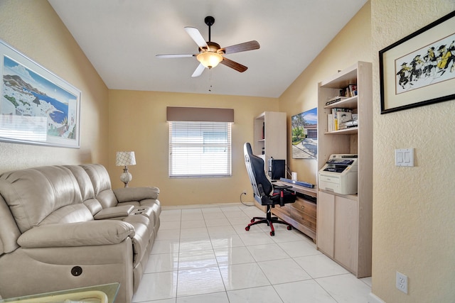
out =
[[80,149],[0,142],[0,172],[38,165],[107,164],[107,87],[48,1],[1,0],[0,39],[82,91]]

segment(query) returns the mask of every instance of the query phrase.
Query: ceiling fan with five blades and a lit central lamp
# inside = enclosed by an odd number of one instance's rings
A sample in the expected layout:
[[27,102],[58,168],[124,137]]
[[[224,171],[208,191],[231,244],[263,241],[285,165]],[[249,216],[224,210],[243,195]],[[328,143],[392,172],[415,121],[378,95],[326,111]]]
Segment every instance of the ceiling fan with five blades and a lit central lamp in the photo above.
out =
[[235,61],[229,60],[224,55],[245,52],[247,50],[257,50],[260,45],[256,40],[248,41],[245,43],[240,43],[236,45],[231,45],[226,48],[221,48],[218,43],[212,42],[210,40],[210,27],[215,23],[215,18],[212,16],[207,16],[204,19],[205,24],[208,26],[208,41],[205,41],[203,36],[198,31],[198,28],[193,28],[187,26],[185,28],[186,33],[196,42],[199,46],[198,54],[169,54],[169,55],[156,55],[159,58],[178,58],[178,57],[196,57],[200,62],[196,70],[193,72],[191,77],[199,77],[202,75],[205,68],[213,68],[221,63],[226,65],[237,72],[245,72],[248,69],[245,65],[241,65]]

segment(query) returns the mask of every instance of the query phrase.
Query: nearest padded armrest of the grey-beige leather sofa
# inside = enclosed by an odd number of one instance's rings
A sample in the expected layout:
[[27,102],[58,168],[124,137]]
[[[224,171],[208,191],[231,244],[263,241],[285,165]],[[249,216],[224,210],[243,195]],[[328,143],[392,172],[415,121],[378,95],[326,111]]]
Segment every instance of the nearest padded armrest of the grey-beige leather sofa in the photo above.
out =
[[98,246],[121,243],[133,236],[132,224],[103,220],[37,226],[23,233],[17,242],[23,248]]

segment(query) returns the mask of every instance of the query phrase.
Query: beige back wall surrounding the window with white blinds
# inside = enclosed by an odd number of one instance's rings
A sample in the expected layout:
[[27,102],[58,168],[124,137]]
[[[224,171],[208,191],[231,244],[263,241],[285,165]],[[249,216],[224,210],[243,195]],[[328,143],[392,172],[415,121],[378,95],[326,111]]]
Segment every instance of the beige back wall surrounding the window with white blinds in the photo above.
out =
[[[234,109],[232,125],[232,177],[168,177],[168,123],[166,106]],[[109,91],[109,174],[112,187],[122,187],[122,167],[115,167],[115,153],[134,150],[137,165],[129,167],[131,186],[157,186],[164,206],[252,201],[252,187],[243,158],[243,143],[253,138],[253,120],[263,111],[277,111],[278,99],[212,94]]]

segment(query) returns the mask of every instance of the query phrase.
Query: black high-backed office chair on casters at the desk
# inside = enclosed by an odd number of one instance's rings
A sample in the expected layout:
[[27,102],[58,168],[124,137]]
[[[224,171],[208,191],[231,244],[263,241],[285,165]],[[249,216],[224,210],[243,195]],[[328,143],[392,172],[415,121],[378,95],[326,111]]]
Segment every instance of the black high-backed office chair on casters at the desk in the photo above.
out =
[[287,229],[291,230],[291,224],[282,221],[275,216],[272,217],[272,208],[277,204],[284,206],[284,204],[294,203],[296,201],[296,194],[289,190],[292,187],[273,186],[265,175],[264,160],[253,155],[250,143],[245,143],[243,146],[243,153],[245,154],[245,165],[247,166],[247,172],[253,187],[255,200],[259,204],[267,206],[266,217],[253,217],[251,223],[245,227],[245,230],[249,231],[252,225],[261,223],[266,223],[270,226],[270,229],[272,230],[270,231],[270,236],[275,235],[274,223],[285,224],[287,225]]

